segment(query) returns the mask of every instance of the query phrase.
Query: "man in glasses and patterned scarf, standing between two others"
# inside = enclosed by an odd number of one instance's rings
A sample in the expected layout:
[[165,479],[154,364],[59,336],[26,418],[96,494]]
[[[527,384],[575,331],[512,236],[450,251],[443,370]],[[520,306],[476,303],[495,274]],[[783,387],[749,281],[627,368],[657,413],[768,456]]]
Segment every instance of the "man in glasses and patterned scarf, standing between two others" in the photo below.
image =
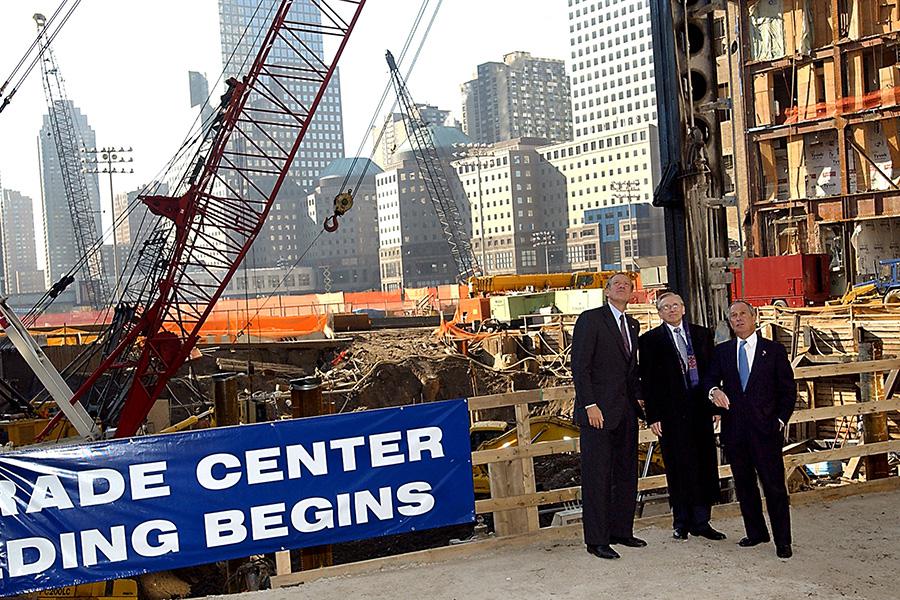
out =
[[663,323],[641,336],[641,390],[650,429],[660,438],[672,537],[688,534],[724,540],[709,524],[719,496],[713,410],[700,386],[713,354],[712,331],[684,319],[684,301],[662,294],[656,309]]

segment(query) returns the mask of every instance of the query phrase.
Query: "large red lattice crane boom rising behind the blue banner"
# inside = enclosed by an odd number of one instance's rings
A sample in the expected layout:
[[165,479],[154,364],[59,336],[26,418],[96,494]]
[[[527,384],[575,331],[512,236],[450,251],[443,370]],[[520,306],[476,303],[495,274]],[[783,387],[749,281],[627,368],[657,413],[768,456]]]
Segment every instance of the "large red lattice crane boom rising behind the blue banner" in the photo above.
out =
[[[54,396],[83,404],[103,435],[134,435],[191,356],[288,177],[365,0],[318,0],[314,14],[292,13],[292,5],[272,6],[252,65],[226,81],[172,193],[139,197],[157,218],[152,235],[127,263],[111,325],[67,369],[66,383],[80,385],[70,399]],[[310,34],[333,40],[330,60]],[[276,45],[299,56],[273,52]],[[92,359],[99,366],[75,379]]]

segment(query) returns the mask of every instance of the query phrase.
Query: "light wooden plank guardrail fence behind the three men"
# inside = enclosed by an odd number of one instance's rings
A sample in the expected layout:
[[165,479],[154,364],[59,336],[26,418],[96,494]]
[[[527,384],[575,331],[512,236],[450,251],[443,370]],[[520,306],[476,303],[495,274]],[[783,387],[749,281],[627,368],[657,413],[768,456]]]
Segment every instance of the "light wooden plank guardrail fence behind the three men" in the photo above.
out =
[[[886,359],[845,363],[837,365],[819,365],[811,367],[796,367],[794,376],[798,384],[805,381],[821,380],[829,377],[860,375],[869,373],[890,373],[888,377],[900,369],[900,359]],[[890,388],[884,386],[882,389]],[[478,450],[472,452],[473,465],[488,465],[491,474],[491,496],[487,499],[475,502],[475,511],[479,514],[492,513],[496,527],[497,538],[488,542],[475,542],[462,546],[438,548],[409,555],[399,555],[383,559],[364,561],[364,564],[338,565],[326,567],[314,571],[290,572],[290,559],[287,552],[277,555],[277,575],[272,578],[273,587],[297,585],[321,577],[333,577],[363,570],[373,570],[380,566],[397,565],[411,562],[423,562],[465,556],[476,551],[484,550],[484,544],[500,545],[525,541],[543,541],[558,538],[561,535],[572,537],[575,530],[580,530],[580,525],[568,527],[541,528],[537,519],[539,506],[558,504],[567,501],[578,500],[581,494],[580,487],[568,487],[554,490],[537,491],[537,482],[534,477],[533,461],[538,456],[550,456],[579,451],[579,440],[557,440],[532,443],[530,435],[531,414],[539,405],[547,403],[564,403],[570,401],[574,395],[572,386],[554,387],[542,390],[528,390],[521,392],[509,392],[490,396],[478,396],[469,399],[469,411],[513,408],[516,415],[516,431],[519,443],[516,446],[492,450]],[[815,423],[820,420],[833,420],[841,417],[854,417],[860,415],[884,414],[890,411],[900,410],[900,397],[888,396],[878,398],[874,402],[855,403],[843,406],[827,406],[796,411],[790,419],[789,425],[796,428],[805,423]],[[794,429],[796,431],[796,429]],[[639,442],[649,442],[656,439],[649,430],[643,429],[639,435]],[[796,469],[806,464],[813,464],[831,460],[858,460],[860,457],[883,455],[887,452],[900,452],[900,440],[879,441],[875,443],[860,443],[859,445],[844,446],[827,451],[803,452],[789,454],[784,458],[786,475],[790,477]],[[721,478],[729,477],[731,468],[728,465],[719,467]],[[666,476],[655,475],[642,477],[638,481],[640,491],[662,489],[666,487]],[[833,488],[825,488],[817,492],[801,492],[792,494],[792,502],[798,503],[798,499],[805,502],[822,501],[826,498],[840,495],[851,495],[861,491],[886,491],[900,488],[900,477],[891,477],[888,480],[873,480],[865,484],[848,484],[843,486],[843,492]],[[836,496],[837,495],[837,496]],[[725,514],[737,514],[736,505],[717,506],[717,516]],[[669,517],[665,517],[667,520]],[[654,520],[656,519],[656,520]],[[656,523],[658,518],[643,519],[642,523]],[[661,521],[660,521],[661,522]]]

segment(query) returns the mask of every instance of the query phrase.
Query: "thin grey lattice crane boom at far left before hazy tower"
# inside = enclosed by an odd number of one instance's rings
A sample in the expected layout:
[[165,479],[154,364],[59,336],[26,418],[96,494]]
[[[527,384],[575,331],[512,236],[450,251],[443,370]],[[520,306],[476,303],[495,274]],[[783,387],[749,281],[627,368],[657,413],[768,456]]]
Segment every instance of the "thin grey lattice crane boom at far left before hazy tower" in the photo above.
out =
[[[41,51],[41,74],[44,82],[44,95],[47,98],[47,115],[50,122],[50,134],[56,147],[59,159],[59,171],[69,213],[72,215],[73,237],[77,256],[83,257],[81,274],[84,279],[83,289],[87,304],[93,308],[104,308],[109,301],[109,285],[103,269],[100,254],[102,240],[99,236],[95,211],[91,206],[91,195],[87,179],[81,164],[81,151],[84,149],[81,136],[75,125],[73,105],[66,94],[65,83],[56,57],[50,48],[50,38],[45,25],[44,15],[36,13],[34,21],[38,28],[38,39]],[[58,287],[65,287],[67,281],[61,280]]]

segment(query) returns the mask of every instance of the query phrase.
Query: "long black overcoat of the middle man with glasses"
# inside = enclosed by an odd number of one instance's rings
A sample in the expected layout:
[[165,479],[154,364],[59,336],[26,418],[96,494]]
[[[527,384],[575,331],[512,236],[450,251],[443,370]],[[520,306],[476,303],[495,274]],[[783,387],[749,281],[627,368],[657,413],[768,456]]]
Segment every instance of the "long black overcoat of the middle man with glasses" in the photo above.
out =
[[660,445],[673,506],[713,504],[719,497],[713,406],[702,386],[713,359],[713,333],[693,323],[687,331],[700,375],[693,389],[688,388],[675,340],[665,323],[639,341],[644,409],[648,423],[662,423]]

